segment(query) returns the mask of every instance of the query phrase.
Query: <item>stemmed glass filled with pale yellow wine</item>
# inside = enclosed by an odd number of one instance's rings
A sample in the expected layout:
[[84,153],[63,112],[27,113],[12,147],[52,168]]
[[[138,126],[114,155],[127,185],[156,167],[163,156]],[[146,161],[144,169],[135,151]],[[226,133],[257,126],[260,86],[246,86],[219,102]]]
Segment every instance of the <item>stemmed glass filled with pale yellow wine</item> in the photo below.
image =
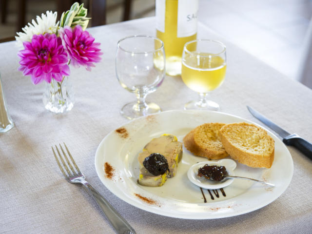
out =
[[226,47],[223,43],[211,39],[187,42],[183,48],[181,77],[199,98],[186,103],[184,109],[218,111],[219,105],[207,100],[207,96],[223,83],[225,73]]

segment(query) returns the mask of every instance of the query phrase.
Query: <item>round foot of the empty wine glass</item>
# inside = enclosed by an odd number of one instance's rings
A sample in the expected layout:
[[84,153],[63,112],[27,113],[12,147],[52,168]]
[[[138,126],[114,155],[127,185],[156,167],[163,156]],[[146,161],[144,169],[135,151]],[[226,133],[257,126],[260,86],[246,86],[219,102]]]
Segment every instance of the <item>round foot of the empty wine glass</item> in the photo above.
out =
[[134,119],[160,112],[160,107],[155,103],[146,103],[146,108],[138,108],[137,101],[124,105],[120,111],[123,117]]

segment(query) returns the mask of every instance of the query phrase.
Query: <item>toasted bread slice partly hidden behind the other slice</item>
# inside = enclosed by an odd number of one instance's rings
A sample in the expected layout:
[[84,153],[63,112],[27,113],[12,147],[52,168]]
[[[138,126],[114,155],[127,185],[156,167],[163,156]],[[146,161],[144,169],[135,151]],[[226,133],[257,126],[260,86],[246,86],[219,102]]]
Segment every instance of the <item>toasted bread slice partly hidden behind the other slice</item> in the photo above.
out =
[[225,158],[225,151],[219,131],[224,123],[205,123],[197,126],[184,138],[184,146],[195,156],[207,157],[209,159]]

